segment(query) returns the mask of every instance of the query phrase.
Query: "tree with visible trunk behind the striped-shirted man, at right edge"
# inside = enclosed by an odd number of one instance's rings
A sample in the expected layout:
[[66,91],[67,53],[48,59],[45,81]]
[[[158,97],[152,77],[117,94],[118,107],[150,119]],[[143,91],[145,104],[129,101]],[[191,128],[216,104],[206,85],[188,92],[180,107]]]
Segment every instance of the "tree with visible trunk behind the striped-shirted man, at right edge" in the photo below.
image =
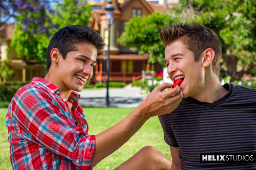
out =
[[255,11],[253,0],[181,0],[169,15],[200,22],[217,33],[222,42],[221,76],[234,81],[256,66]]

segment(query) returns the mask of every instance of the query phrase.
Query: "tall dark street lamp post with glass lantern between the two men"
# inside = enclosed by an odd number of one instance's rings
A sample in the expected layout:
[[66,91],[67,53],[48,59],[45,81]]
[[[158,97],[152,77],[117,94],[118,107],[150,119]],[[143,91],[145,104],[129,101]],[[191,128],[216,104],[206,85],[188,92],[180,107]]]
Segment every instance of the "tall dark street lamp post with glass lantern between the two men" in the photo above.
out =
[[105,17],[109,29],[109,44],[108,44],[108,59],[106,60],[106,107],[110,106],[109,100],[109,81],[110,81],[110,26],[114,21],[114,6],[112,1],[109,1],[105,7]]

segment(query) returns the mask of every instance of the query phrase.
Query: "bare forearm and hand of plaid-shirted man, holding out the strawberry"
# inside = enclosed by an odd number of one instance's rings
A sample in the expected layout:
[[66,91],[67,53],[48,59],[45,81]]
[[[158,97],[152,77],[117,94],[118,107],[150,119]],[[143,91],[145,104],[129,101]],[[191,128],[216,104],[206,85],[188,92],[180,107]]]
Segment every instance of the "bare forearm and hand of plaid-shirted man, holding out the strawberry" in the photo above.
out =
[[109,156],[129,140],[152,116],[172,112],[182,99],[180,87],[163,91],[172,85],[163,83],[156,87],[135,110],[115,126],[96,135],[95,152],[91,167]]

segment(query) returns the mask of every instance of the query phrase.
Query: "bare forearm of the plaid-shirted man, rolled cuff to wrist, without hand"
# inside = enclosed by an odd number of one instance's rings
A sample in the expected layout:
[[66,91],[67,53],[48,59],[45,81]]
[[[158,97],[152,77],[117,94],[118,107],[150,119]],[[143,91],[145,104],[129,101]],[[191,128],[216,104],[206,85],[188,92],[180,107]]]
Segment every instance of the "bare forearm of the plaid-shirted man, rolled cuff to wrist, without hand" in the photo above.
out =
[[141,128],[148,118],[143,113],[142,106],[138,106],[118,124],[96,135],[91,167],[120,148]]

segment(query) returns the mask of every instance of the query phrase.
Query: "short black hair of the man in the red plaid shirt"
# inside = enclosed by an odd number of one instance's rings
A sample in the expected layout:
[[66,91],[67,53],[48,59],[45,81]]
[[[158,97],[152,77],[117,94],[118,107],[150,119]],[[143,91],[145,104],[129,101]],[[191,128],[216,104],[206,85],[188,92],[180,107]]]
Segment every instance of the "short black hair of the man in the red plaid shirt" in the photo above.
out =
[[47,69],[51,66],[51,51],[53,48],[58,48],[63,59],[71,51],[77,51],[77,44],[87,42],[97,48],[98,54],[102,51],[105,44],[99,33],[95,32],[90,27],[85,26],[68,26],[56,32],[47,48],[46,64]]

